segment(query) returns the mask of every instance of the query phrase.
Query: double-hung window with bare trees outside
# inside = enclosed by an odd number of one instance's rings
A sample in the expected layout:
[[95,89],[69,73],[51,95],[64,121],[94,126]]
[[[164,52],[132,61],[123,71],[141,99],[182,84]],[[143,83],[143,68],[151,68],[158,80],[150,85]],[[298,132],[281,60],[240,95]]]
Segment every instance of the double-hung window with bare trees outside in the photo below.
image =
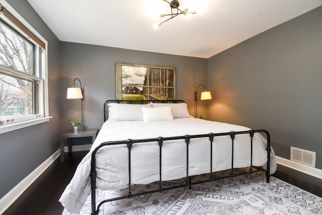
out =
[[[37,32],[29,30],[28,23],[16,19],[18,14],[9,13],[8,7],[0,4],[0,133],[8,125],[48,114],[46,44]],[[21,126],[10,130],[18,128]]]

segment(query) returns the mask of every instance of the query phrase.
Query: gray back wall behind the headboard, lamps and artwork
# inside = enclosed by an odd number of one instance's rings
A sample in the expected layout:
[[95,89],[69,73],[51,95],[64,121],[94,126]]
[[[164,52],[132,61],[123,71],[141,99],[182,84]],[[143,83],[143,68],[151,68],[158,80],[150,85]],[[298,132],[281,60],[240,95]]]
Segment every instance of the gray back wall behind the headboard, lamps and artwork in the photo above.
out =
[[[65,99],[74,78],[79,78],[84,87],[85,127],[101,128],[103,104],[108,99],[115,99],[116,62],[176,67],[176,98],[184,100],[189,113],[194,115],[194,91],[199,84],[206,85],[207,59],[61,42],[63,130],[71,129],[71,120],[81,120],[80,100]],[[78,82],[76,86],[79,87]],[[198,112],[206,111],[206,103],[199,103]]]

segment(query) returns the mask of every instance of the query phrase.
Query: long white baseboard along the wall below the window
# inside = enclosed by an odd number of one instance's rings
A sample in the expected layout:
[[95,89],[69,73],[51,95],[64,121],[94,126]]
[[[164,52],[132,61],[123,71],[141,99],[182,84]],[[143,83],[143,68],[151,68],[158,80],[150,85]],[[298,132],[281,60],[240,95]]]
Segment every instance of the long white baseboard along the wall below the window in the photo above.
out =
[[24,178],[12,190],[10,190],[4,197],[0,199],[0,214],[3,214],[12,205],[17,198],[58,158],[60,150],[57,150],[45,162],[37,167],[32,173]]

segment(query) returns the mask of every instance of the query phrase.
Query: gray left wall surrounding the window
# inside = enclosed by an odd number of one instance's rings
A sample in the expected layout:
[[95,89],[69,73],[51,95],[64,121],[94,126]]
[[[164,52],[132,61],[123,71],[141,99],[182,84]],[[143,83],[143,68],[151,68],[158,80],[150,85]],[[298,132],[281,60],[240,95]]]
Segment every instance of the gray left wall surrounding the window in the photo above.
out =
[[49,122],[0,134],[0,198],[59,149],[59,40],[26,0],[7,1],[48,41]]

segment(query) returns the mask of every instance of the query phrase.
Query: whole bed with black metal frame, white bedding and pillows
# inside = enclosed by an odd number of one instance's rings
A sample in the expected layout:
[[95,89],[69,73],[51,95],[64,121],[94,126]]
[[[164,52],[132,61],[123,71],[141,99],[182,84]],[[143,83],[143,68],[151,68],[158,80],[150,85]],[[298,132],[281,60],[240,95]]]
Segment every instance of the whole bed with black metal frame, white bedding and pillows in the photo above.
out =
[[[124,104],[126,103],[126,104]],[[139,104],[138,104],[139,103]],[[107,117],[108,115],[108,117]],[[108,119],[108,120],[107,120]],[[79,213],[92,196],[92,214],[98,214],[96,189],[112,190],[186,178],[182,186],[192,186],[190,177],[231,169],[251,167],[270,174],[276,170],[270,135],[266,130],[197,119],[189,115],[182,100],[108,100],[104,104],[104,124],[91,148],[78,165],[59,201],[70,213]],[[264,138],[262,134],[266,135]],[[254,169],[253,167],[261,167]],[[151,191],[149,191],[151,193]]]

